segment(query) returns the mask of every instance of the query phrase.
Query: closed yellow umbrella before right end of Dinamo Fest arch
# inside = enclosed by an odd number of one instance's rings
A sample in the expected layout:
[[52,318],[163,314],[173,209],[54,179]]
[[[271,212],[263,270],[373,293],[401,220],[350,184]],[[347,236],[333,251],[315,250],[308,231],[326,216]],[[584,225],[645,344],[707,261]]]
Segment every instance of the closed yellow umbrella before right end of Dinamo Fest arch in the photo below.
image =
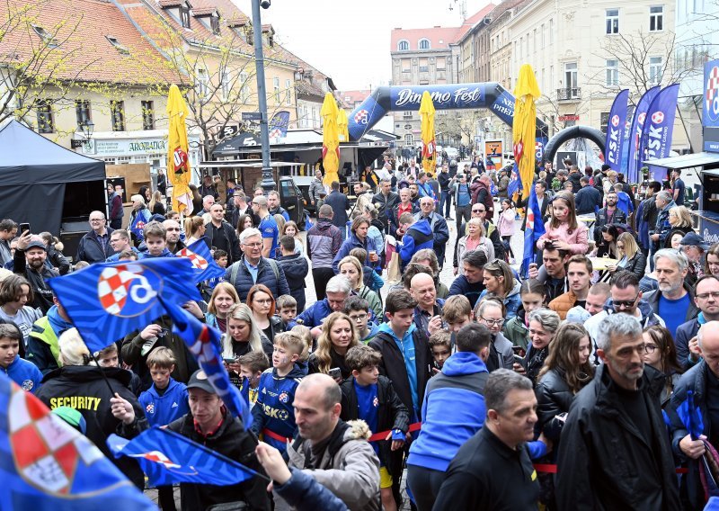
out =
[[522,180],[522,199],[527,199],[534,179],[535,170],[535,130],[537,130],[537,107],[539,85],[534,69],[528,64],[519,67],[519,78],[514,87],[514,121],[511,124],[511,140],[514,148],[514,161],[519,166]]

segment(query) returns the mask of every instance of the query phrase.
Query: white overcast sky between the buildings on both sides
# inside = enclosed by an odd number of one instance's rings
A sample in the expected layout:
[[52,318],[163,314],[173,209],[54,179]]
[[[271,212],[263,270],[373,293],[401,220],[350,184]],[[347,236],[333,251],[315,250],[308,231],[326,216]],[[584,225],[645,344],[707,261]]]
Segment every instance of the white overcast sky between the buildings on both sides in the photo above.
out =
[[[280,44],[331,76],[338,89],[354,90],[389,82],[393,28],[458,27],[462,1],[271,0],[271,7],[261,11],[262,23],[272,24]],[[489,4],[489,0],[464,1],[467,16]],[[252,17],[250,0],[234,2]]]

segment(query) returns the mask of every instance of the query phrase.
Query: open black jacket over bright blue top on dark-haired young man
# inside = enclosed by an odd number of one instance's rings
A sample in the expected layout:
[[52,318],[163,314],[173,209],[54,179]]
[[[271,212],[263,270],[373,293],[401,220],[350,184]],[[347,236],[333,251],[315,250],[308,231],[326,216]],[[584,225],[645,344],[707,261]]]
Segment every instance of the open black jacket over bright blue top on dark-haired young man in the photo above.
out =
[[424,332],[415,329],[412,337],[414,342],[414,365],[417,370],[417,402],[420,406],[420,409],[416,410],[412,402],[410,379],[404,367],[404,355],[395,342],[395,337],[386,332],[379,332],[377,336],[369,341],[368,346],[382,354],[379,372],[392,381],[397,396],[409,410],[410,420],[415,421],[418,417],[422,417],[424,390],[426,390],[427,381],[430,381],[431,378],[432,354],[429,339]]

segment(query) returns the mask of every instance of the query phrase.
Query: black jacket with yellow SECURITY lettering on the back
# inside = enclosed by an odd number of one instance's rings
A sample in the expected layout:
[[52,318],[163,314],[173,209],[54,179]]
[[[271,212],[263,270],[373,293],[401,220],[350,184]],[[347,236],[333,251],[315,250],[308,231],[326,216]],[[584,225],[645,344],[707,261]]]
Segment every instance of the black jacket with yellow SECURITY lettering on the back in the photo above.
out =
[[[104,373],[104,377],[102,374]],[[105,377],[107,380],[105,380]],[[145,421],[145,412],[138,398],[129,390],[130,373],[118,367],[100,368],[95,365],[71,365],[49,372],[42,379],[37,397],[48,408],[75,408],[87,424],[85,436],[97,446],[139,489],[145,486],[145,476],[138,462],[127,456],[115,458],[107,446],[107,438],[116,433],[120,420],[112,415],[108,388],[127,399],[135,409],[135,417]]]

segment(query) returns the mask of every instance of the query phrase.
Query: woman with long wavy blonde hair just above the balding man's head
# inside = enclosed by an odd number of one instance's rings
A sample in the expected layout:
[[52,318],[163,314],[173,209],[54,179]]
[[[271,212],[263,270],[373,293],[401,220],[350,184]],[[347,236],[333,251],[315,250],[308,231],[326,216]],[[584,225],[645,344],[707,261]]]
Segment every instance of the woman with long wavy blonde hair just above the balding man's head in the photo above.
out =
[[317,338],[317,349],[309,357],[309,374],[329,374],[340,383],[351,376],[351,370],[344,362],[348,350],[359,345],[354,322],[343,312],[333,312],[322,325]]

